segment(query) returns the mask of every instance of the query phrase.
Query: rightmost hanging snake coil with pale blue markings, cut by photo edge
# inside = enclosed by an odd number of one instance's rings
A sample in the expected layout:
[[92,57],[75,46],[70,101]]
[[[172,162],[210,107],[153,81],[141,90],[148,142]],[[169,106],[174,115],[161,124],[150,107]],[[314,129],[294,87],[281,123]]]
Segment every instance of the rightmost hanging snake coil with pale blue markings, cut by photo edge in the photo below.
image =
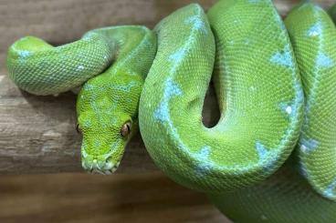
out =
[[285,20],[305,93],[298,155],[302,174],[326,198],[336,198],[336,28],[319,6],[303,4]]

